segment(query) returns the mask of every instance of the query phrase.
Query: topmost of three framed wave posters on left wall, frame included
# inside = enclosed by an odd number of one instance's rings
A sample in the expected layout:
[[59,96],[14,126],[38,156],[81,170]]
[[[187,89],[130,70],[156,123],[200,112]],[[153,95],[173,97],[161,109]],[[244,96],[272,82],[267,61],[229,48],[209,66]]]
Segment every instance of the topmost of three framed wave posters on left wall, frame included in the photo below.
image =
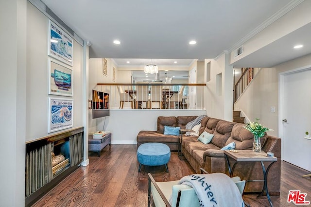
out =
[[48,55],[73,66],[73,38],[49,19]]

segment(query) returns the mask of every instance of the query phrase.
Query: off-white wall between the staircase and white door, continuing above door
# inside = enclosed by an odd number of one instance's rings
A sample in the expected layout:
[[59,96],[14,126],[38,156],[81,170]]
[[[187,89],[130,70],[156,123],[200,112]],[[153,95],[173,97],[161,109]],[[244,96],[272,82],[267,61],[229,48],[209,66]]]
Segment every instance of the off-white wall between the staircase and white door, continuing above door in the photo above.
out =
[[[274,131],[270,135],[278,135],[278,76],[280,72],[303,68],[311,65],[311,54],[297,58],[274,68],[261,69],[256,78],[244,91],[236,102],[235,107],[242,109],[247,117],[254,121],[260,118],[261,122]],[[311,80],[311,77],[310,77]],[[275,106],[276,112],[270,112],[270,107]]]

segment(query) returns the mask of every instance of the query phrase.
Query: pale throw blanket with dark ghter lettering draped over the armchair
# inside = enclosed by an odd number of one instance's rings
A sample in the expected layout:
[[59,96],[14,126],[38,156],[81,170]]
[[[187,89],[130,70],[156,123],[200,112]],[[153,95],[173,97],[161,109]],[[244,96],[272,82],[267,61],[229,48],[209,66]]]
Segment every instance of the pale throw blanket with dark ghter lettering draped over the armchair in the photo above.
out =
[[243,207],[242,195],[234,181],[224,173],[191,174],[178,184],[192,187],[204,207]]

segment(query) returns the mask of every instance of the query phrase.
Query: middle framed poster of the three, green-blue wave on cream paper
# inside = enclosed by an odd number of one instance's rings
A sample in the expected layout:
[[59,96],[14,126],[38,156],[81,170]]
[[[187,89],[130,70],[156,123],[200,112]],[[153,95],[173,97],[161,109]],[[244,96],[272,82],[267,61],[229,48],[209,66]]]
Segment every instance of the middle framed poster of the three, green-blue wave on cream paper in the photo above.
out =
[[49,94],[72,96],[72,69],[49,58]]

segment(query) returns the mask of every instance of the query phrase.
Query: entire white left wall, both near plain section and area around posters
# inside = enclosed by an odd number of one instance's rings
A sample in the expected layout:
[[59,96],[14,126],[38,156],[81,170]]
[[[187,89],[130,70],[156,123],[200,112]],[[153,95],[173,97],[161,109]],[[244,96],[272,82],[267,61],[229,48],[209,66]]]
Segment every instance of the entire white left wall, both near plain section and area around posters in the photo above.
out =
[[[27,0],[0,2],[0,206],[24,206],[25,141],[48,135],[48,18]],[[83,47],[73,43],[73,127],[83,126]],[[5,97],[5,98],[4,98]],[[59,133],[58,131],[56,133]]]

